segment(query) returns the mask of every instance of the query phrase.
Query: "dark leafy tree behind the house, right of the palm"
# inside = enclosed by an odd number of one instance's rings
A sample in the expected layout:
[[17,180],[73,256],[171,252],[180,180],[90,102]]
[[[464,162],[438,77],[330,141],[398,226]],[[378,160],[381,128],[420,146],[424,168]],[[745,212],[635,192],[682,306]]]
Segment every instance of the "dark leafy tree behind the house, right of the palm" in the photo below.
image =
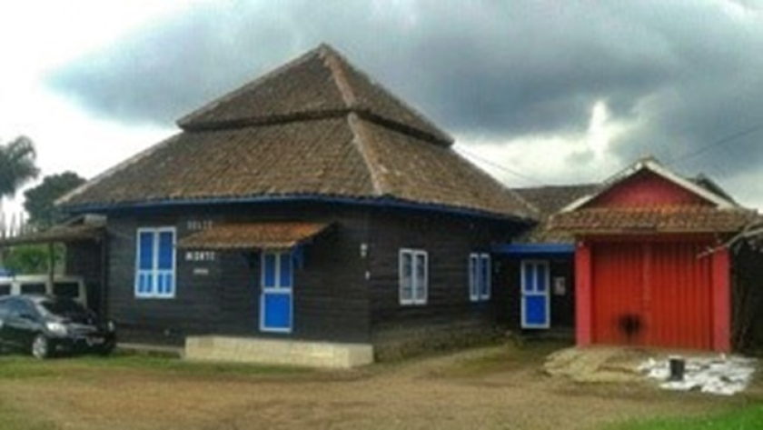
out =
[[64,221],[64,213],[55,207],[55,200],[83,184],[84,178],[74,172],[45,176],[42,184],[24,193],[27,222],[44,230]]

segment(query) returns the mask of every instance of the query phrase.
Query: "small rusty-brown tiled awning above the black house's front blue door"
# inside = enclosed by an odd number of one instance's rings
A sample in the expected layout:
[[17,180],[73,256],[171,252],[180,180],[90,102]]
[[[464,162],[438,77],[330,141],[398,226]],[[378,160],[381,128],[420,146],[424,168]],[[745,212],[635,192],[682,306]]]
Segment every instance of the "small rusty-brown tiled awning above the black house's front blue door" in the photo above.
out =
[[326,230],[327,223],[262,222],[213,225],[178,241],[184,249],[292,248]]

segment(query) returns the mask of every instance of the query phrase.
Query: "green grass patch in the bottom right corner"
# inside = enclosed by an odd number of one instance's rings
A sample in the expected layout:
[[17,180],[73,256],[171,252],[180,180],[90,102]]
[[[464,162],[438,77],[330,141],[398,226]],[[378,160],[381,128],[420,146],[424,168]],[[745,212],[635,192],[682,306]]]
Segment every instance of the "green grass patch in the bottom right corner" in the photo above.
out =
[[608,430],[754,430],[763,428],[763,405],[750,405],[718,415],[658,418],[619,423]]

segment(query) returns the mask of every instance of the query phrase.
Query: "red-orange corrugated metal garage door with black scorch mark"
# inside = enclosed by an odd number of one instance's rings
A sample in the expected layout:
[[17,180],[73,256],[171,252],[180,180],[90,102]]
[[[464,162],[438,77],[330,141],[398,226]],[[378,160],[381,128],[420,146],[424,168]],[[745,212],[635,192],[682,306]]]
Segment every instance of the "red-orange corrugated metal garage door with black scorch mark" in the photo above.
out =
[[699,243],[592,247],[593,341],[708,349],[711,259]]

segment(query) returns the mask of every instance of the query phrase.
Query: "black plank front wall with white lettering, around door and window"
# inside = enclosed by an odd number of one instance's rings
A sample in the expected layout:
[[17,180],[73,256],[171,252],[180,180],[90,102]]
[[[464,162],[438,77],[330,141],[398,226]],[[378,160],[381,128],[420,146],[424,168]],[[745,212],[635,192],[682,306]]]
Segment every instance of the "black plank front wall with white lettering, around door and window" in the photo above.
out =
[[[291,335],[259,332],[261,263],[256,252],[217,251],[213,261],[190,261],[186,253],[201,250],[180,249],[175,297],[134,296],[138,227],[175,226],[180,240],[193,233],[188,229],[193,222],[283,219],[332,223],[327,232],[304,245],[303,265],[295,266]],[[215,334],[368,341],[368,295],[359,252],[367,229],[361,212],[331,206],[223,206],[213,212],[174,209],[111,215],[108,224],[108,304],[123,328],[123,338],[175,343],[185,335]]]

